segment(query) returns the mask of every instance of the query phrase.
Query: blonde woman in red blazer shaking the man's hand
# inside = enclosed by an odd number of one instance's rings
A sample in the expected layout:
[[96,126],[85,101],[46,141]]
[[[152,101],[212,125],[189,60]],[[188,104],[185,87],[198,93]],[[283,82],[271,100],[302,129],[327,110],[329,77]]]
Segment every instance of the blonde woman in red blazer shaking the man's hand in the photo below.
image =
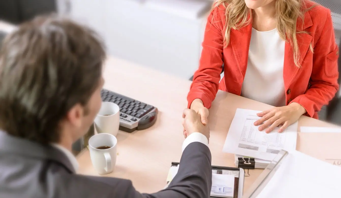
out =
[[188,108],[207,124],[207,108],[221,89],[275,106],[258,113],[255,125],[267,133],[282,125],[283,132],[303,114],[317,118],[333,98],[338,54],[327,8],[308,0],[218,0]]

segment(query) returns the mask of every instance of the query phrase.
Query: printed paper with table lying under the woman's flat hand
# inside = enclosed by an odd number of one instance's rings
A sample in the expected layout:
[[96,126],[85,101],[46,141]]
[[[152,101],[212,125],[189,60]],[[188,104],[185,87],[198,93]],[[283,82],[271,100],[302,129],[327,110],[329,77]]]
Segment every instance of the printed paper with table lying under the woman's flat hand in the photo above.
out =
[[296,149],[298,123],[289,126],[282,133],[278,132],[279,127],[265,133],[265,130],[259,131],[259,126],[254,125],[260,119],[256,115],[259,112],[261,111],[237,109],[223,152],[271,161],[282,149]]

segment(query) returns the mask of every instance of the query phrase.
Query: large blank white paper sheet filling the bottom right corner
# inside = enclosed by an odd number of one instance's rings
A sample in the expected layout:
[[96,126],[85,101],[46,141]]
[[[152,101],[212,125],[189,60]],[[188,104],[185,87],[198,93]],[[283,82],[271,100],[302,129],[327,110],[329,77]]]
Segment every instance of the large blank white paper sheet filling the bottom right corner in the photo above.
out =
[[257,198],[340,197],[341,167],[292,150]]

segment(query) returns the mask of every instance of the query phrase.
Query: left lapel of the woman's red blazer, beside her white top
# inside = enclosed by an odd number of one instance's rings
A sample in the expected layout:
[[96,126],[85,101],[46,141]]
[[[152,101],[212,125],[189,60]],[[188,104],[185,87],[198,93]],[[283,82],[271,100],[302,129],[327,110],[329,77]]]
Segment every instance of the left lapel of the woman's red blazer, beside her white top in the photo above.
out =
[[246,68],[248,66],[251,33],[252,23],[238,30],[232,29],[230,34],[230,43],[238,68],[243,76],[242,79],[245,77]]

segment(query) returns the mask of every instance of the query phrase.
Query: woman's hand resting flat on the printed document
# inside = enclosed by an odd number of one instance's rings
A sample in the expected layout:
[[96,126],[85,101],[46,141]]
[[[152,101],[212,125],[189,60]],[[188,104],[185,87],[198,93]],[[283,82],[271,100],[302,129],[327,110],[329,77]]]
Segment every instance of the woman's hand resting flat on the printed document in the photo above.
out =
[[[290,105],[283,107],[275,107],[261,113],[257,113],[257,116],[262,117],[257,120],[254,125],[258,126],[258,130],[265,130],[266,133],[270,133],[279,125],[283,125],[278,130],[279,133],[283,132],[289,125],[296,122],[301,115],[305,114],[307,111],[298,103],[291,103]],[[263,124],[262,124],[263,123]]]

